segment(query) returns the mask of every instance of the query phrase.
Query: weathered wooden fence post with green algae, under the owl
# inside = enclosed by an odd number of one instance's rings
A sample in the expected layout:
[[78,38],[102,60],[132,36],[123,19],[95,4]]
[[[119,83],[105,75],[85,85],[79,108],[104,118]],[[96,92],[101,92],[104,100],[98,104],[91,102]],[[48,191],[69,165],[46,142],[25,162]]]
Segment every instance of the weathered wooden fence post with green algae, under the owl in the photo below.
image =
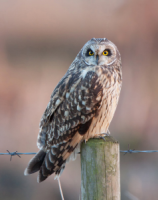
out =
[[120,149],[110,136],[81,145],[81,200],[120,200]]

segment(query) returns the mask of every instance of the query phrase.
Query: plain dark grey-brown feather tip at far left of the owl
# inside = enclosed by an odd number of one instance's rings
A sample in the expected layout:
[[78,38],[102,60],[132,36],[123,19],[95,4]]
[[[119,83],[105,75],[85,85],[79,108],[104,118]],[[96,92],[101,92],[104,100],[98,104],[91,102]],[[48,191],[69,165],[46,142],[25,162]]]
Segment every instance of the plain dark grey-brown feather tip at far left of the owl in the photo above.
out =
[[27,168],[24,171],[24,175],[27,176],[29,174],[33,174],[40,170],[40,167],[44,161],[46,156],[46,152],[42,149],[30,160]]

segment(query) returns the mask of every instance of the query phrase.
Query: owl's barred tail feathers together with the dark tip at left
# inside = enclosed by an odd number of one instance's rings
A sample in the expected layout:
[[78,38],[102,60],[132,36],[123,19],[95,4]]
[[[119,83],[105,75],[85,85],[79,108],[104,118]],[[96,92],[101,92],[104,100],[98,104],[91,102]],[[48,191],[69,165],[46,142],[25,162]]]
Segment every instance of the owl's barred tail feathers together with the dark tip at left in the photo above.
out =
[[41,149],[29,162],[24,175],[29,175],[39,171],[37,182],[42,182],[48,176],[55,173],[59,177],[69,160],[74,160],[78,153],[77,146],[80,146],[83,136],[78,132],[67,141],[53,145],[49,151]]

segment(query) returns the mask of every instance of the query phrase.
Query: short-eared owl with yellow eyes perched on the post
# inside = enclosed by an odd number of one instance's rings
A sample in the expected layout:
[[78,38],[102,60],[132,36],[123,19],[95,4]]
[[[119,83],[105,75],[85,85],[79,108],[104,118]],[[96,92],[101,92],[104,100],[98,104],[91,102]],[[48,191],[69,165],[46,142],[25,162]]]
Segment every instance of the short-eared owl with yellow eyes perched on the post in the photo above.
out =
[[38,182],[61,174],[80,143],[107,133],[122,85],[121,56],[108,39],[89,40],[54,89],[42,116],[39,152],[25,175],[39,171]]

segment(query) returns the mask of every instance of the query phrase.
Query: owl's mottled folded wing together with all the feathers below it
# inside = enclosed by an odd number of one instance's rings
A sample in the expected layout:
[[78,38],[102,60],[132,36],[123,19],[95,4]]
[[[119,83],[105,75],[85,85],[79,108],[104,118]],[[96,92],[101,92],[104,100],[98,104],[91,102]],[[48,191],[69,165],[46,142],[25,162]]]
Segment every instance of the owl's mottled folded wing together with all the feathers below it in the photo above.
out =
[[103,88],[98,75],[89,71],[67,74],[54,90],[40,123],[38,146],[25,175],[39,170],[38,182],[61,174],[70,154],[82,141],[101,106]]

